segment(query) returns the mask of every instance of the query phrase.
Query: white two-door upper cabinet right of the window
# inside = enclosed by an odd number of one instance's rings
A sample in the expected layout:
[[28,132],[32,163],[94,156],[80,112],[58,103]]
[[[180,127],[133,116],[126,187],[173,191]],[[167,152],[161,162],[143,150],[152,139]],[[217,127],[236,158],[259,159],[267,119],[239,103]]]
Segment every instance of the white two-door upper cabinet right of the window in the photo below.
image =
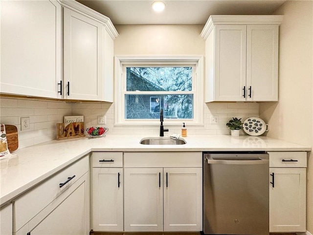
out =
[[210,16],[205,40],[205,102],[277,101],[282,16]]

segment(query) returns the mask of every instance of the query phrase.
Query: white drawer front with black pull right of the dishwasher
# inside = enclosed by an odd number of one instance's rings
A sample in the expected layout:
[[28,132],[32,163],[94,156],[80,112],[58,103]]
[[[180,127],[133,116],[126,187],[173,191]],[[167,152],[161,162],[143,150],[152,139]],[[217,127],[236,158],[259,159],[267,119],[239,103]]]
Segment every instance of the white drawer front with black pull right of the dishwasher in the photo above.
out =
[[269,167],[307,167],[307,152],[268,152]]

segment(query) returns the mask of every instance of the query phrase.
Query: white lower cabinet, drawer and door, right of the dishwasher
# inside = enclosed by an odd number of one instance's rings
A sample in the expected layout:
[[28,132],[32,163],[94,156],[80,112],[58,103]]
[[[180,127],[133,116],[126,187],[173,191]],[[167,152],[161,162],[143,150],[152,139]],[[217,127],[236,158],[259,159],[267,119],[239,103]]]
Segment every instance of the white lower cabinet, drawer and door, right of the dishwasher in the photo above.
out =
[[306,152],[270,152],[269,159],[269,232],[306,232]]

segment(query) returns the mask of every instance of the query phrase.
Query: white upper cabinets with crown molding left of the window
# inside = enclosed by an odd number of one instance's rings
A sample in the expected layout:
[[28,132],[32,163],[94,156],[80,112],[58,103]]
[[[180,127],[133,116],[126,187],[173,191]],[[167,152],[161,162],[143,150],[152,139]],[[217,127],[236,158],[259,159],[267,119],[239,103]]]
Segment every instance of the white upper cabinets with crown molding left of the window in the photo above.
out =
[[108,17],[75,0],[0,4],[0,93],[113,102]]

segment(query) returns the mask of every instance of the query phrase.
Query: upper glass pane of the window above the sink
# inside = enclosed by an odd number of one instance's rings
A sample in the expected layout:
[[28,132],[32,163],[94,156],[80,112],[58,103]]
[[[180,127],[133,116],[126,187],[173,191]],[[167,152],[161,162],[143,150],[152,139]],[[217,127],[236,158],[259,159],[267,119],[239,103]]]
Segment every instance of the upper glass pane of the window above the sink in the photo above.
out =
[[192,67],[128,67],[126,91],[191,91]]

